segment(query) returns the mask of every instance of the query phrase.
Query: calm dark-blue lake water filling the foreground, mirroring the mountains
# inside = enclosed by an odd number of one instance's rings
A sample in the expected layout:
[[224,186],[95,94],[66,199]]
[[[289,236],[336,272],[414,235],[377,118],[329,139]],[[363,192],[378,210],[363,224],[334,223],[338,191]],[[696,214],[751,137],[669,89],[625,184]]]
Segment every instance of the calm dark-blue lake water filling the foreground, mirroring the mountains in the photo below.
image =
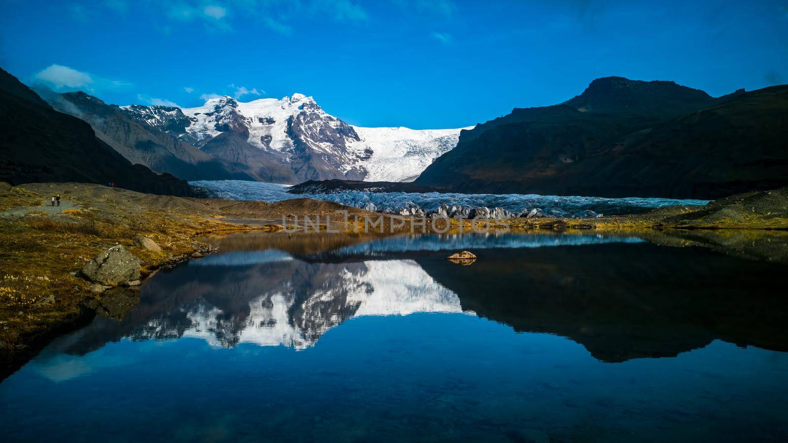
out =
[[210,241],[0,382],[0,440],[788,439],[784,265],[632,236]]

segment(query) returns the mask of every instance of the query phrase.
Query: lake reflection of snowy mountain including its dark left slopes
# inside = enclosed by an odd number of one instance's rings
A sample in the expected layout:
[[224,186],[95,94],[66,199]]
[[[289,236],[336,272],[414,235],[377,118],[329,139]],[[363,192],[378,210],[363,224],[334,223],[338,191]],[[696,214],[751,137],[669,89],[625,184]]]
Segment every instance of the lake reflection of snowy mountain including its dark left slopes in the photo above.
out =
[[224,348],[251,343],[304,349],[357,316],[463,312],[455,292],[413,260],[307,262],[276,250],[230,251],[188,262],[146,281],[130,311],[113,310],[122,304],[113,297],[127,300],[129,293],[135,292],[106,294],[99,316],[50,350],[84,355],[109,341],[182,337]]

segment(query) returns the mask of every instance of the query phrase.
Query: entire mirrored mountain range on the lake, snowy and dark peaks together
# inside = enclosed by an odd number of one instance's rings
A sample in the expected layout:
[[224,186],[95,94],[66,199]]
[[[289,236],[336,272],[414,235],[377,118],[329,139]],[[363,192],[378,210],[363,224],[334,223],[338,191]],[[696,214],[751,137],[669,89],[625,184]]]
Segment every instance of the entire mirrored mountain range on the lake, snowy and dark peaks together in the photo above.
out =
[[[554,234],[216,240],[221,254],[158,274],[136,306],[132,290],[106,294],[94,322],[49,352],[180,337],[304,349],[357,316],[463,311],[571,338],[605,362],[676,356],[717,339],[788,350],[788,300],[775,296],[782,267],[701,248]],[[440,251],[469,244],[479,257],[472,266]]]

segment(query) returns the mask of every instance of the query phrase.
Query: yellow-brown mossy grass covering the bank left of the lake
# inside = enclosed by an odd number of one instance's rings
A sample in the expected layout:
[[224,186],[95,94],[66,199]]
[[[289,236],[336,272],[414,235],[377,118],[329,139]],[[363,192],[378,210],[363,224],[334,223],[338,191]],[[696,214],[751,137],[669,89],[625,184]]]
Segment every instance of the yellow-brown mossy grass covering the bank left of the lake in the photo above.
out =
[[[35,193],[5,193],[0,207],[27,206],[42,199]],[[197,251],[203,246],[194,240],[200,233],[238,228],[196,215],[173,217],[165,210],[126,213],[89,203],[58,215],[31,211],[0,218],[0,353],[13,354],[78,318],[84,304],[97,296],[89,291],[88,281],[73,274],[104,249],[123,244],[143,260],[143,274],[149,274],[173,256]],[[163,252],[134,244],[138,235],[156,241]]]

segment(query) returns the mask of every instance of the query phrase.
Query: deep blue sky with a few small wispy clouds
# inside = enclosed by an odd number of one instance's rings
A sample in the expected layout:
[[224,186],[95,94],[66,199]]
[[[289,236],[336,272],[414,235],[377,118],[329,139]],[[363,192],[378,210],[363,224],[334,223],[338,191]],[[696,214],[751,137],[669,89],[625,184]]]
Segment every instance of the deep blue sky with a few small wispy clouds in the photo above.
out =
[[456,128],[594,78],[788,83],[788,1],[0,0],[0,66],[106,102],[313,95],[354,125]]

